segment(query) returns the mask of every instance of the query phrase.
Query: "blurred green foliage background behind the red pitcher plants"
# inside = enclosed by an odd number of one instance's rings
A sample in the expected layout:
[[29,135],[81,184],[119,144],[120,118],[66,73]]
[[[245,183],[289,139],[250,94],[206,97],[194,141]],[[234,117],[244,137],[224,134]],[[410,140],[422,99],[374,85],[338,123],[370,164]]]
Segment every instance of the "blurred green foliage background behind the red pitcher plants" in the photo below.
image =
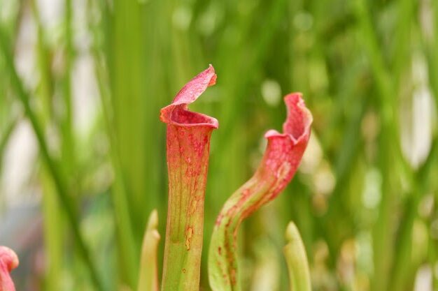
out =
[[20,255],[17,290],[135,290],[154,208],[165,234],[160,108],[209,64],[218,82],[191,107],[220,123],[202,290],[216,215],[291,91],[312,137],[243,224],[243,290],[288,288],[290,220],[313,290],[438,290],[438,1],[0,0],[0,244]]

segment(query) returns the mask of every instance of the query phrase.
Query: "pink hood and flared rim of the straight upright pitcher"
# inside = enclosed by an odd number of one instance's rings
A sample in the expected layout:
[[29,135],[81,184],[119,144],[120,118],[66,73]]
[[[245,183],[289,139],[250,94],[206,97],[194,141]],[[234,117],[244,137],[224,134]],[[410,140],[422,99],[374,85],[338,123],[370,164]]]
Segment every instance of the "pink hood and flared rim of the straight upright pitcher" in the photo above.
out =
[[160,120],[175,126],[208,126],[218,128],[219,123],[216,118],[188,110],[188,105],[195,102],[207,87],[216,84],[216,77],[214,68],[211,65],[199,73],[176,94],[171,105],[162,108]]

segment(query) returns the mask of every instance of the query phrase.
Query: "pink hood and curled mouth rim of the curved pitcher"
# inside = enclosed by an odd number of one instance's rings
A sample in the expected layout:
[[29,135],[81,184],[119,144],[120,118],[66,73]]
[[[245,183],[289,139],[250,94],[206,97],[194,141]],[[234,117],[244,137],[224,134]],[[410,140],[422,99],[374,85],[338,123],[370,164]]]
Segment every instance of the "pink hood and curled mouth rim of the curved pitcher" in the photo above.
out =
[[288,94],[285,96],[284,101],[288,109],[288,117],[283,124],[283,133],[271,129],[264,134],[264,137],[268,140],[274,137],[290,137],[292,144],[307,142],[313,117],[302,99],[302,94]]

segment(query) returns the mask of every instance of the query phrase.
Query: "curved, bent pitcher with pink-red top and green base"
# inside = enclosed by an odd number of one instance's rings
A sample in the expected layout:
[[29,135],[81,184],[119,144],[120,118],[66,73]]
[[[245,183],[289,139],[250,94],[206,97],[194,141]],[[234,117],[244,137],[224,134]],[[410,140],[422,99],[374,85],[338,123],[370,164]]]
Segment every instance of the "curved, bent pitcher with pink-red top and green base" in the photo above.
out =
[[246,217],[273,200],[292,179],[310,135],[311,113],[301,94],[285,97],[288,119],[284,133],[269,130],[267,149],[257,171],[229,197],[211,237],[209,279],[213,291],[241,290],[237,262],[237,232]]

